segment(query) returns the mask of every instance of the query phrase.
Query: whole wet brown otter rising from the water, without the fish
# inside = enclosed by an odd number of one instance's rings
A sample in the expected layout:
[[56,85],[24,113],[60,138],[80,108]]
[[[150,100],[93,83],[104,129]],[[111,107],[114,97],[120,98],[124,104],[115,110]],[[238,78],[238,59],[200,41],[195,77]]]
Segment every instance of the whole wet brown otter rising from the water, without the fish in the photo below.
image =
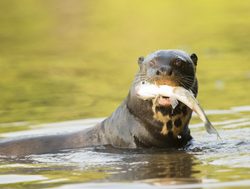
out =
[[182,86],[198,93],[196,54],[181,50],[158,50],[139,57],[126,99],[101,123],[75,133],[3,140],[0,155],[25,156],[54,153],[62,149],[111,145],[116,148],[180,148],[191,139],[188,128],[192,110],[179,102],[172,108],[167,97],[141,100],[135,87],[140,82]]

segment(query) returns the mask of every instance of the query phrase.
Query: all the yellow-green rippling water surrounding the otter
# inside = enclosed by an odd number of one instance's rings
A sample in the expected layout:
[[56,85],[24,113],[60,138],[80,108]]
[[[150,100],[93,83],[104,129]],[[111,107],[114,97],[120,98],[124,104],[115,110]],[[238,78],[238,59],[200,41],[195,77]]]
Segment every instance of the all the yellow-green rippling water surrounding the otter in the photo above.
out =
[[0,138],[91,127],[127,95],[137,57],[178,48],[198,55],[222,140],[194,115],[188,149],[1,157],[0,188],[249,188],[249,18],[236,0],[1,0]]

